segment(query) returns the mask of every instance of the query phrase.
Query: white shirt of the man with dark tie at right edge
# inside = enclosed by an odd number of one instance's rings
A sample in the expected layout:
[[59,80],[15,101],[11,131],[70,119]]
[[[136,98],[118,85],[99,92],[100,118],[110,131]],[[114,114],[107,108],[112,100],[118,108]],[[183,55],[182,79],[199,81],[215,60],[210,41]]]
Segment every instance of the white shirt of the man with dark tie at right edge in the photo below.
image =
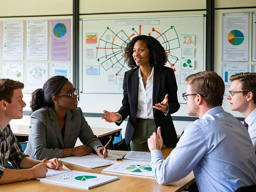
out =
[[248,132],[254,146],[254,151],[256,151],[256,109],[244,121],[248,124]]

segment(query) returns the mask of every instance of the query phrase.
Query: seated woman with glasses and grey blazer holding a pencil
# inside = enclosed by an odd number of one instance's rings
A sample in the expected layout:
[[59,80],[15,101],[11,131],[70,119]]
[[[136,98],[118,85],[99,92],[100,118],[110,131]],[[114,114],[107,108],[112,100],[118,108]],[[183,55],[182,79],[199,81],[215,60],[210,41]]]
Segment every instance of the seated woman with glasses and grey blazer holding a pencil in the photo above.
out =
[[[25,154],[38,160],[83,156],[94,150],[106,158],[108,151],[93,134],[77,107],[78,89],[63,76],[48,79],[32,93],[31,130]],[[74,147],[79,137],[83,145]]]

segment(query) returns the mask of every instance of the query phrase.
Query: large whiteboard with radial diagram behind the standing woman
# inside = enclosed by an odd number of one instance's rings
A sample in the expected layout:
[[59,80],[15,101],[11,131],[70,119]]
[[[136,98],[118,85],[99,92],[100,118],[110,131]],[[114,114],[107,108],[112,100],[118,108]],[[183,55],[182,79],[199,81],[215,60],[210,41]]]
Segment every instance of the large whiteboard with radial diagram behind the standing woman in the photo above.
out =
[[[204,15],[92,18],[81,22],[82,93],[123,93],[124,72],[130,70],[124,62],[124,49],[140,34],[155,37],[165,48],[166,66],[175,70],[180,103],[185,102],[185,78],[205,70]],[[189,37],[193,43],[188,43]]]

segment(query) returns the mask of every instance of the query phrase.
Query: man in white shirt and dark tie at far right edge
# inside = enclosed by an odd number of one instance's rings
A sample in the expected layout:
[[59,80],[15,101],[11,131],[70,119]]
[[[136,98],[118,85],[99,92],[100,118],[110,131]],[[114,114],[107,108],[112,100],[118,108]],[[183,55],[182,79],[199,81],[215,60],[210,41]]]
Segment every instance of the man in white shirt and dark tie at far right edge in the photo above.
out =
[[256,152],[256,73],[238,73],[230,76],[231,85],[227,99],[230,110],[239,111],[244,116],[244,126],[248,130]]

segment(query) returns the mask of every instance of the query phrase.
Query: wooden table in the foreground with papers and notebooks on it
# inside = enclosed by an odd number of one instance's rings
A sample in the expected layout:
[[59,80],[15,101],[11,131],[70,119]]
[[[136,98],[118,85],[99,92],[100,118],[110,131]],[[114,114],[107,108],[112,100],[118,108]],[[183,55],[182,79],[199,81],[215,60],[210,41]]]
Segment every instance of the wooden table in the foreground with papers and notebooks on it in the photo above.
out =
[[[171,148],[163,149],[163,156],[166,158],[170,152],[172,151]],[[121,160],[122,161],[122,160]],[[102,191],[102,192],[119,192],[119,191],[168,191],[168,192],[178,192],[182,191],[183,189],[187,188],[193,182],[195,182],[194,174],[191,172],[187,177],[179,180],[178,182],[170,185],[170,186],[163,186],[159,185],[156,182],[155,178],[151,177],[143,177],[143,176],[134,176],[134,175],[126,175],[126,174],[118,174],[118,173],[111,173],[111,172],[102,172],[102,169],[105,167],[99,167],[95,169],[89,169],[86,167],[81,167],[69,163],[64,163],[70,170],[78,170],[84,172],[91,172],[91,173],[98,173],[104,175],[114,175],[118,176],[120,179],[114,182],[101,185],[99,187],[95,187],[89,189],[89,191]],[[0,186],[1,191],[40,191],[40,192],[52,192],[52,191],[61,191],[61,192],[69,192],[69,191],[87,191],[84,189],[78,189],[74,187],[66,187],[57,184],[48,184],[44,182],[40,182],[39,180],[29,180],[24,182],[18,182],[13,184],[5,184]]]

